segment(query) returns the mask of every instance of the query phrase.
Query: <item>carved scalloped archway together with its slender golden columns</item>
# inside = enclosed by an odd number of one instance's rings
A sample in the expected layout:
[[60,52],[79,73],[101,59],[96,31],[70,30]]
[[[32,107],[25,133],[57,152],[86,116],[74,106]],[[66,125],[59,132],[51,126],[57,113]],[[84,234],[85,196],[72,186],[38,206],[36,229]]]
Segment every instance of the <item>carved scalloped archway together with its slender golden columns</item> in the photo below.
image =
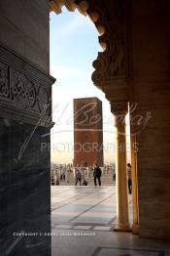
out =
[[[95,71],[92,74],[92,81],[95,86],[105,93],[106,99],[111,104],[111,111],[118,119],[118,115],[124,116],[127,113],[128,103],[132,102],[131,94],[131,31],[130,31],[130,1],[112,0],[107,3],[102,1],[82,1],[82,0],[51,0],[51,11],[56,14],[61,13],[63,5],[74,12],[77,8],[81,14],[88,15],[99,31],[99,43],[103,52],[98,53],[97,60],[93,62]],[[124,124],[123,124],[124,125]],[[117,126],[118,134],[121,128]],[[134,133],[134,126],[130,128]],[[125,143],[124,138],[119,137],[119,142]],[[134,143],[131,137],[131,144]],[[118,145],[119,147],[119,145]],[[118,229],[129,231],[128,222],[128,199],[126,193],[126,154],[118,150],[117,184],[118,184]],[[138,189],[136,154],[132,157],[132,184],[133,184],[133,233],[137,233],[139,224],[138,213]],[[122,160],[123,159],[123,160]],[[123,164],[120,164],[120,161]],[[121,174],[119,176],[119,174]],[[122,175],[123,174],[123,175]],[[122,188],[124,190],[122,190]],[[124,193],[125,191],[125,193]],[[122,200],[123,198],[123,200]],[[122,212],[122,214],[119,214]],[[124,217],[125,216],[125,217]]]

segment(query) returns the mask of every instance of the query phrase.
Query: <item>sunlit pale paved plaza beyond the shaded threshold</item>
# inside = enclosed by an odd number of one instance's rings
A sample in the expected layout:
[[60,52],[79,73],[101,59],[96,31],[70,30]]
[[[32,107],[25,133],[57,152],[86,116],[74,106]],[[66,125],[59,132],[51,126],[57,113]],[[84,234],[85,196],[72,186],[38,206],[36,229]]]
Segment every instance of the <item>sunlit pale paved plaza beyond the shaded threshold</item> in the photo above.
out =
[[[110,231],[116,223],[115,187],[51,187],[52,228]],[[131,196],[130,215],[131,215]]]

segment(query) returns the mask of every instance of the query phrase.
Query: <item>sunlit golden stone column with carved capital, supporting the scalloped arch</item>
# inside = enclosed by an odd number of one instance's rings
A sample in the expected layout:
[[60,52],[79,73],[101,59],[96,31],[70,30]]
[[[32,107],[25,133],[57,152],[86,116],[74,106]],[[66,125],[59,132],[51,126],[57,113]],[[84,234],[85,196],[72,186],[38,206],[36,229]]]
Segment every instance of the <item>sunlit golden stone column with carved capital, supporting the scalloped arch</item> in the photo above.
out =
[[128,216],[128,194],[126,176],[125,115],[127,102],[111,104],[115,115],[116,130],[116,181],[117,181],[117,226],[116,232],[131,232]]

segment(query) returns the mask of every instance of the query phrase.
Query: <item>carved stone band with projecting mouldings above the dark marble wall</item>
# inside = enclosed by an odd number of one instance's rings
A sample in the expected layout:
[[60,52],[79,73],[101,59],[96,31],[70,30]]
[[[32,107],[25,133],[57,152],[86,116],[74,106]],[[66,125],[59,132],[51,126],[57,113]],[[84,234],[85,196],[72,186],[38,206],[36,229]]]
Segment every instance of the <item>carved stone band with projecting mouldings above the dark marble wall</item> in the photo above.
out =
[[51,84],[47,73],[0,45],[0,115],[51,126]]

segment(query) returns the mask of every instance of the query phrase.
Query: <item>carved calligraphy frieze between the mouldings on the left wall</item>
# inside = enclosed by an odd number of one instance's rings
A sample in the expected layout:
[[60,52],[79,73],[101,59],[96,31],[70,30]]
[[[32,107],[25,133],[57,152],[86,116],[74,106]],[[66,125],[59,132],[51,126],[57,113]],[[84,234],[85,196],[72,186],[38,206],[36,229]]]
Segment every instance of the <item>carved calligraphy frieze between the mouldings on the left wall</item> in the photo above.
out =
[[38,82],[3,63],[0,63],[0,97],[10,101],[14,107],[36,113],[50,106],[50,89],[48,92]]

